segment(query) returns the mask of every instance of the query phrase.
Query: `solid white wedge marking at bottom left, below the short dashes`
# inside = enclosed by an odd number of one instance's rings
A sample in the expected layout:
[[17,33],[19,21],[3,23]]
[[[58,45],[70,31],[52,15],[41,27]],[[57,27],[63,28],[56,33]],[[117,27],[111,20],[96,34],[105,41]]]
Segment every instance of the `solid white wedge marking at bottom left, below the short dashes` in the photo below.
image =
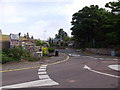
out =
[[2,88],[28,88],[28,87],[30,88],[30,87],[51,86],[51,85],[59,85],[59,84],[51,79],[44,79],[44,80],[36,80],[36,81],[14,84],[14,85],[7,85],[7,86],[0,87],[0,89]]

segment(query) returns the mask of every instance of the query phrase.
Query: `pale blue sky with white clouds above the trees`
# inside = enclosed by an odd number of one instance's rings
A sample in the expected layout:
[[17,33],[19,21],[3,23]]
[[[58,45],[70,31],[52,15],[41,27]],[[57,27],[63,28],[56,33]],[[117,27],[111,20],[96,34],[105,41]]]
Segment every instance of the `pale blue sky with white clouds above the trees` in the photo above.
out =
[[71,36],[72,15],[85,6],[117,0],[0,0],[2,34],[29,33],[36,39],[54,38],[60,28]]

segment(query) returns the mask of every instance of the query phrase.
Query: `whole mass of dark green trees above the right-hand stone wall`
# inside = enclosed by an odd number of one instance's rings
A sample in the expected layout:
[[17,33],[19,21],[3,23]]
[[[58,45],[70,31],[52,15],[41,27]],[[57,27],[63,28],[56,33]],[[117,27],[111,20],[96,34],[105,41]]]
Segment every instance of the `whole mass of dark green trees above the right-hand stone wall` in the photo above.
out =
[[72,16],[72,35],[85,47],[119,47],[120,2],[105,5],[108,11],[98,5],[85,6]]

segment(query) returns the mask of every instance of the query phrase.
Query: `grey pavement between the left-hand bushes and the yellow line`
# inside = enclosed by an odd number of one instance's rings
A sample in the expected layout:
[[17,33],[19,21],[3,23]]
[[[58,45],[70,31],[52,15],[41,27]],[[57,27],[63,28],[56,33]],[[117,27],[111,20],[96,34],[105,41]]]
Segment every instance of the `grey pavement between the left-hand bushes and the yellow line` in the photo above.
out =
[[66,55],[59,53],[59,56],[45,57],[39,61],[34,61],[34,62],[30,62],[26,60],[23,60],[21,62],[10,62],[2,65],[2,71],[13,70],[13,69],[19,70],[21,68],[29,68],[29,67],[34,68],[37,66],[39,67],[42,64],[50,64],[64,59],[66,59]]

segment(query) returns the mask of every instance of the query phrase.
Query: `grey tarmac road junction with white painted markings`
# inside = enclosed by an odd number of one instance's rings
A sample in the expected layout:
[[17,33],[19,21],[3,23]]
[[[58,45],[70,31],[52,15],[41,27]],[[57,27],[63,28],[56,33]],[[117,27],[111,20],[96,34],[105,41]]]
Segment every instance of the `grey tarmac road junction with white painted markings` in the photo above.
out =
[[119,71],[108,68],[117,60],[95,59],[72,49],[59,51],[73,56],[59,64],[3,73],[3,87],[29,84],[29,88],[118,88]]

